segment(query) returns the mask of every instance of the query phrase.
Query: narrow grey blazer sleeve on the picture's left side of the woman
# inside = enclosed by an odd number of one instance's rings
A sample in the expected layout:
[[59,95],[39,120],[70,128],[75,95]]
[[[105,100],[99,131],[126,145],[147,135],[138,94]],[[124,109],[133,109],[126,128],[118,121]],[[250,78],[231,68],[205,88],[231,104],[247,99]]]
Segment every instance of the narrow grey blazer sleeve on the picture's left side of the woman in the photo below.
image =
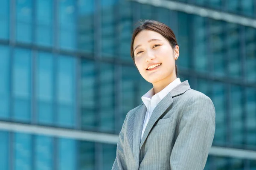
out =
[[[128,113],[127,113],[128,115]],[[122,125],[122,129],[119,133],[119,139],[117,142],[117,147],[116,147],[116,159],[114,161],[114,164],[112,166],[112,170],[126,170],[127,166],[125,163],[125,155],[124,155],[124,129],[126,125],[126,120],[127,116],[125,117],[125,121]]]

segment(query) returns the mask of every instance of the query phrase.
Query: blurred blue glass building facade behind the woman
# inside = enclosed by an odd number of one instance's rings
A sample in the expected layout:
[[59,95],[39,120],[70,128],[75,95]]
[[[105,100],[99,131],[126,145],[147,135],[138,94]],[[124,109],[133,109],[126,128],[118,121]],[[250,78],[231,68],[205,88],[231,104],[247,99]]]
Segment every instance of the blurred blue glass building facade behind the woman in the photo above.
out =
[[[254,0],[169,1],[256,22]],[[178,77],[215,105],[212,147],[256,151],[256,27],[136,0],[1,0],[0,169],[111,169],[107,138],[152,88],[130,57],[140,19],[175,32]],[[210,153],[205,169],[256,170],[255,160]]]

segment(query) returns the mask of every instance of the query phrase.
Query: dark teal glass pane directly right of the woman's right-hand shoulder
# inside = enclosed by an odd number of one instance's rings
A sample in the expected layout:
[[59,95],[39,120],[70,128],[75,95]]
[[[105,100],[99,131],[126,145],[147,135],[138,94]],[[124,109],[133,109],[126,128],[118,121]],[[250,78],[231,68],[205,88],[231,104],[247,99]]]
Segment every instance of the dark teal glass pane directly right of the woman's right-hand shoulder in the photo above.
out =
[[215,107],[215,135],[213,144],[217,146],[226,145],[226,129],[227,129],[227,109],[225,86],[222,83],[214,82],[212,86],[212,95],[210,98]]

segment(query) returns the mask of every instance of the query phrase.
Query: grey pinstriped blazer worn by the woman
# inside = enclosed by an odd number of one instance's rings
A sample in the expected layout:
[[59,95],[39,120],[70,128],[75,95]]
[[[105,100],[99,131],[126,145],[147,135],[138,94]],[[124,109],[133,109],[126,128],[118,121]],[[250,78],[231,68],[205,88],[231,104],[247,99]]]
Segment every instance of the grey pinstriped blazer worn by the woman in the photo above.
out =
[[112,170],[203,170],[215,133],[212,100],[182,82],[159,102],[141,139],[146,111],[142,103],[127,113]]

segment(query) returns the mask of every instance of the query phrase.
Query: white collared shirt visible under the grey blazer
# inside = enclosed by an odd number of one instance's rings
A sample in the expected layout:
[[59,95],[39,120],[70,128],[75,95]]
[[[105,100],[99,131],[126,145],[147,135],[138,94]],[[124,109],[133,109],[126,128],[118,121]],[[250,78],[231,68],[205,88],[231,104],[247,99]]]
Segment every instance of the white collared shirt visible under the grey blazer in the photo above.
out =
[[144,94],[141,99],[144,103],[144,105],[147,108],[147,112],[145,115],[145,119],[144,119],[144,124],[143,124],[143,129],[142,129],[142,133],[141,133],[141,139],[143,137],[145,128],[148,124],[148,120],[152,115],[152,112],[154,111],[154,108],[157,106],[157,104],[173,89],[175,88],[177,85],[179,85],[180,82],[180,78],[175,79],[174,81],[172,81],[169,85],[167,85],[163,90],[161,90],[160,92],[158,92],[157,94],[154,95],[154,88],[151,88],[146,94]]

